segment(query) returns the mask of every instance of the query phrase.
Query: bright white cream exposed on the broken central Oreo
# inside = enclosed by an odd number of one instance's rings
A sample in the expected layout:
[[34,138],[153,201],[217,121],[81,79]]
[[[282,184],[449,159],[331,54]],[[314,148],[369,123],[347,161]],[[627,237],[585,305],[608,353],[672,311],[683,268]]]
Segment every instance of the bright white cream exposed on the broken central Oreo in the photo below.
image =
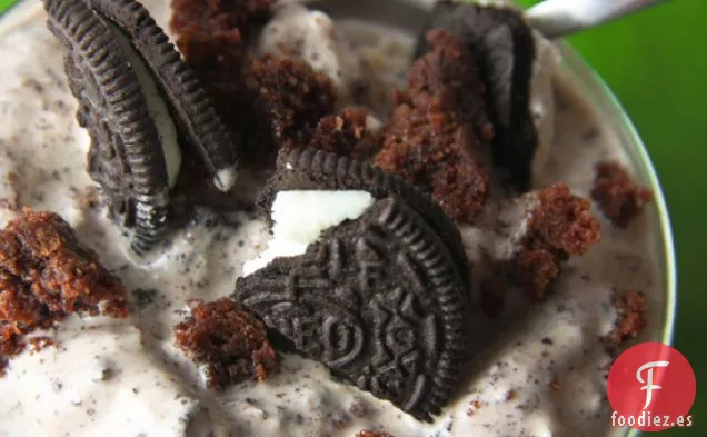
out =
[[258,258],[243,265],[248,276],[275,258],[305,254],[327,229],[355,220],[374,205],[367,191],[280,191],[272,202],[272,238]]

